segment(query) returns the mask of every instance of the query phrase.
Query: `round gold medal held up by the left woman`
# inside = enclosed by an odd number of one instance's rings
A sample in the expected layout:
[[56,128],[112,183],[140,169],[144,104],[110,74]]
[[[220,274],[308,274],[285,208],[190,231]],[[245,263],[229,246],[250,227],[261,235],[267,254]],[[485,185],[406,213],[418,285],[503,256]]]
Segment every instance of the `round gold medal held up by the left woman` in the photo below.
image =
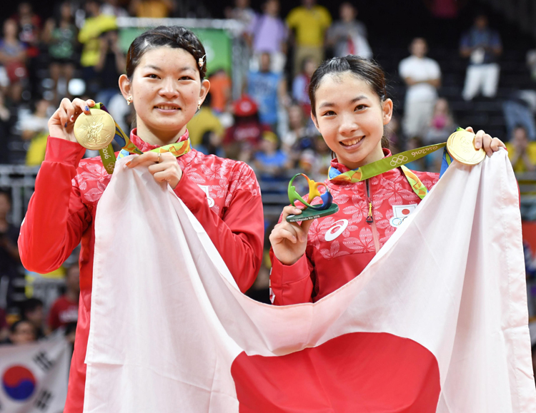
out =
[[115,136],[115,122],[101,109],[89,109],[91,115],[81,113],[74,122],[74,137],[84,148],[98,151],[109,146]]

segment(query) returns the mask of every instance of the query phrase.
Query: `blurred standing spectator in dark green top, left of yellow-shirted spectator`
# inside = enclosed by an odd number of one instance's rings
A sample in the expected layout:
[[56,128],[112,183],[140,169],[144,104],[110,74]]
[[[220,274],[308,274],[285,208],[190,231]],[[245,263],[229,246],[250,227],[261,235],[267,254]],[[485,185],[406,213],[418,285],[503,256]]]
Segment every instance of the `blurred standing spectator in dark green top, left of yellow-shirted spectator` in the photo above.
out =
[[[48,45],[50,56],[50,77],[54,81],[54,102],[58,100],[58,81],[64,78],[66,86],[74,75],[76,67],[76,46],[78,29],[74,24],[73,13],[69,1],[59,6],[59,13],[46,21],[43,41]],[[69,88],[62,95],[70,98]]]

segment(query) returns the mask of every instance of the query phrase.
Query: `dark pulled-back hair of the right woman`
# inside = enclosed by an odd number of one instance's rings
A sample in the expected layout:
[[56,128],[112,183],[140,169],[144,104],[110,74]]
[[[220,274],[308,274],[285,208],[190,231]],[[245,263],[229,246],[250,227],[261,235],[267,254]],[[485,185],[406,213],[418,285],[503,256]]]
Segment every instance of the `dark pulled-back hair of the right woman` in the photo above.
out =
[[[309,83],[309,100],[311,101],[311,112],[316,118],[315,110],[315,93],[317,92],[320,82],[324,76],[331,73],[344,73],[349,71],[355,77],[361,79],[370,86],[372,91],[377,94],[380,101],[387,99],[387,85],[385,83],[385,73],[382,66],[376,61],[359,56],[348,55],[344,57],[334,57],[324,61],[317,70],[314,71]],[[382,148],[389,148],[389,140],[382,136]]]

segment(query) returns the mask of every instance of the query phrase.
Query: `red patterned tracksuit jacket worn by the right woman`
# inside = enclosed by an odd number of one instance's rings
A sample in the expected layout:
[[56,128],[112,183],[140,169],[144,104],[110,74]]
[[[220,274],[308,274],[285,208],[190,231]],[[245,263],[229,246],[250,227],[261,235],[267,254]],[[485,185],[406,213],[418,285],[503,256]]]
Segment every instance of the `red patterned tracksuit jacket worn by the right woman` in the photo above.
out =
[[[391,153],[384,149],[384,155]],[[337,159],[332,167],[348,170]],[[414,172],[429,190],[439,180],[437,173]],[[421,201],[399,168],[358,183],[325,183],[339,211],[314,220],[305,254],[294,265],[284,265],[270,253],[274,305],[318,301],[357,277]],[[367,223],[369,213],[372,223]]]

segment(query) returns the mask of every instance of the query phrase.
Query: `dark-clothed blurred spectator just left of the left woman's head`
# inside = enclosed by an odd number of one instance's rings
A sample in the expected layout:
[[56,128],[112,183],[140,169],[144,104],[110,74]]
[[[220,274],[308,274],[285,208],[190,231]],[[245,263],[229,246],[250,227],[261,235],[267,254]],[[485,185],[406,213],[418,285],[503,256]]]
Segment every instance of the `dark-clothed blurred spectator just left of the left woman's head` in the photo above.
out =
[[101,53],[95,72],[99,78],[98,102],[106,106],[111,98],[120,94],[117,79],[124,72],[126,60],[123,51],[119,49],[119,36],[116,30],[101,34]]

